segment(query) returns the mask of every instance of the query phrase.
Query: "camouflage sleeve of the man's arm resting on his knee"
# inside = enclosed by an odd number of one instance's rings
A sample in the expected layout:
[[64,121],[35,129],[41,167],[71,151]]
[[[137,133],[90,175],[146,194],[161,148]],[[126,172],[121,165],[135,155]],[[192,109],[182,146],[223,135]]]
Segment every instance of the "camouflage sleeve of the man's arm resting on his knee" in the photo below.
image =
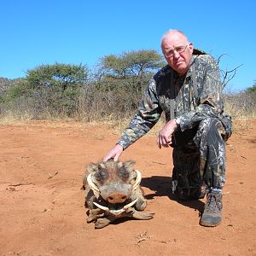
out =
[[211,55],[200,55],[195,60],[196,80],[199,97],[197,107],[176,118],[181,130],[187,130],[198,125],[208,117],[218,118],[223,113],[222,85],[218,64]]

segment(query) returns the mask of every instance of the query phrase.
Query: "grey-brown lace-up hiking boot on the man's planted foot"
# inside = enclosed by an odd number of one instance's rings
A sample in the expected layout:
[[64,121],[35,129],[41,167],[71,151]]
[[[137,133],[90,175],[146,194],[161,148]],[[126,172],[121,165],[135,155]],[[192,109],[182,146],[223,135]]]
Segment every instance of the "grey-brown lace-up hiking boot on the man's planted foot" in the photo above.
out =
[[222,194],[221,192],[210,192],[200,224],[205,227],[215,227],[221,223]]

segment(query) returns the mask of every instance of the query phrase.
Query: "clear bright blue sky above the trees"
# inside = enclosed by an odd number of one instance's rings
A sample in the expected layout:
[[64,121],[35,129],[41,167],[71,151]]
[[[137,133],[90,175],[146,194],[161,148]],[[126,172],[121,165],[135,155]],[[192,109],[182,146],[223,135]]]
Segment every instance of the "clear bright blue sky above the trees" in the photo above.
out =
[[0,77],[41,64],[93,67],[104,55],[156,49],[169,28],[185,32],[220,67],[238,68],[230,90],[256,80],[256,1],[1,0]]

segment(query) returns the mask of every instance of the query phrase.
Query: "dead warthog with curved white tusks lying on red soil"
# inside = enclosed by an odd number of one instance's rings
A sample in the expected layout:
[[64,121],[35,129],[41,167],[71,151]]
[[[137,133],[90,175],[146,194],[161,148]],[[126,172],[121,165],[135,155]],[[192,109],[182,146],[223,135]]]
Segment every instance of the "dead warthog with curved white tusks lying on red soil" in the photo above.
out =
[[89,208],[87,222],[95,221],[101,229],[117,218],[153,218],[154,213],[138,212],[147,207],[140,187],[141,173],[134,161],[113,161],[90,164],[83,179],[84,206]]

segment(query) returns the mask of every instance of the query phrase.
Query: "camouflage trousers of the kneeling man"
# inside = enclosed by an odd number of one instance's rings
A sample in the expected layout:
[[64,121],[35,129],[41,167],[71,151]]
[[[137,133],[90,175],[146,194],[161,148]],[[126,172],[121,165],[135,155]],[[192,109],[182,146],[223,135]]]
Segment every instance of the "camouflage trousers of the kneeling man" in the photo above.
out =
[[[231,129],[231,127],[230,127]],[[177,131],[173,141],[172,191],[181,199],[203,198],[225,183],[225,140],[219,119],[204,119],[191,130]]]

